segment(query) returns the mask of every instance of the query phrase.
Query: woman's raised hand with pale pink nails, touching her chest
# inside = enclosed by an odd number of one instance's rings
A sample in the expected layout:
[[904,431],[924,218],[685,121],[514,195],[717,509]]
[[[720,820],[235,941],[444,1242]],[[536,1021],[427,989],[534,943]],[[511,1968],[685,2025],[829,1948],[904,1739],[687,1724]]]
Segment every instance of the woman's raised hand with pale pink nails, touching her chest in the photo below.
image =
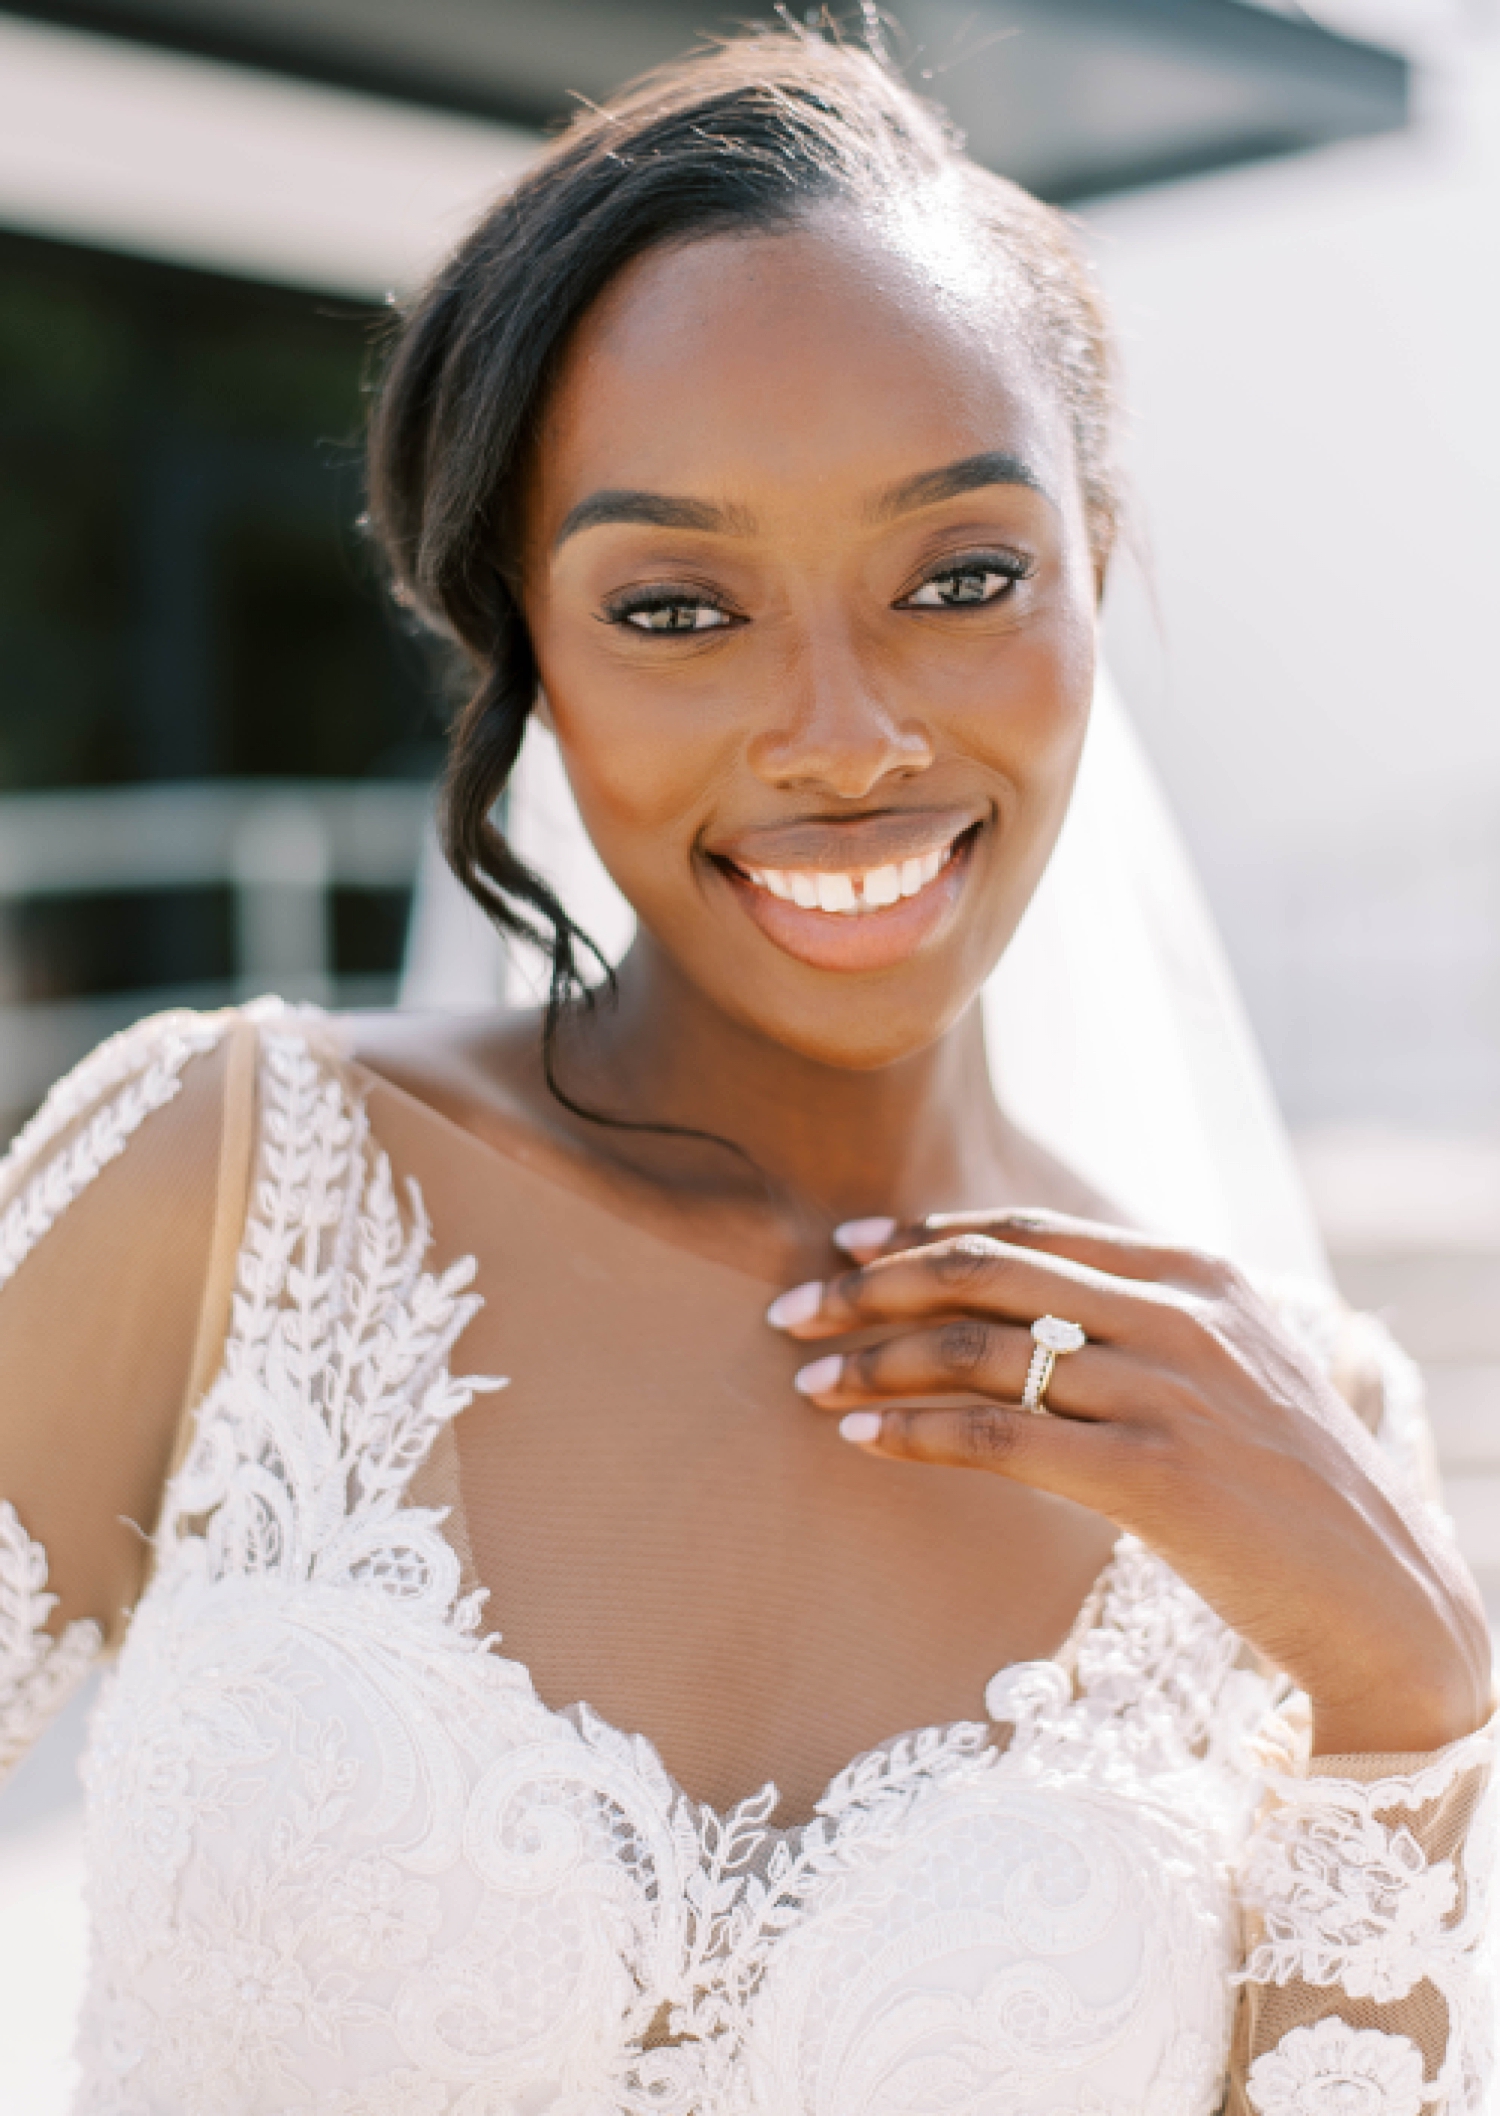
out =
[[[1013,1477],[1132,1530],[1307,1693],[1322,1754],[1432,1750],[1483,1722],[1472,1583],[1229,1263],[1054,1212],[886,1227],[853,1223],[861,1265],[770,1310],[804,1342],[889,1327],[798,1373],[846,1439]],[[1087,1344],[1058,1358],[1035,1416],[1020,1394],[1043,1314]],[[910,1401],[941,1397],[967,1401]]]

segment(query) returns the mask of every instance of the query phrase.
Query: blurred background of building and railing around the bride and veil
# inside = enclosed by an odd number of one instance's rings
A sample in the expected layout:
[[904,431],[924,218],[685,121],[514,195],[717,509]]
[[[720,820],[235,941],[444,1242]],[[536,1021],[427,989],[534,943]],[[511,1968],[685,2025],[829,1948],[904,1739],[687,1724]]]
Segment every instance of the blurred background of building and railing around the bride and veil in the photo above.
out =
[[[385,305],[747,13],[0,8],[0,1136],[154,1007],[402,990],[444,696],[358,529]],[[1500,0],[884,13],[1113,296],[1111,662],[1500,1604]],[[66,2108],[80,1710],[0,1801],[6,2116]]]

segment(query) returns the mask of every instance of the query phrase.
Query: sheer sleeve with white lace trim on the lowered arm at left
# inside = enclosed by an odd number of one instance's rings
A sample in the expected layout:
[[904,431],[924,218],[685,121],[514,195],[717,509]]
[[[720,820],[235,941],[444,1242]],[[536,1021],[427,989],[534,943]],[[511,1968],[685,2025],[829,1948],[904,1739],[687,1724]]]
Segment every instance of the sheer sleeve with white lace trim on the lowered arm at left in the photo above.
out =
[[176,1014],[110,1039],[0,1162],[0,1777],[144,1574],[201,1322],[222,1033]]

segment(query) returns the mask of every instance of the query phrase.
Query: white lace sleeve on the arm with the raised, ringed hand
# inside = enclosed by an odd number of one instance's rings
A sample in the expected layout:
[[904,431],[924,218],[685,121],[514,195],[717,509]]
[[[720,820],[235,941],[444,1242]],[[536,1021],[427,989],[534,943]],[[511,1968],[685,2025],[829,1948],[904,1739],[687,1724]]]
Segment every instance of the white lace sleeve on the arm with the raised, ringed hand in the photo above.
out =
[[[1365,1403],[1346,1392],[1434,1498],[1420,1373],[1382,1325],[1350,1320]],[[1240,1871],[1229,2116],[1487,2116],[1494,1737],[1492,1722],[1434,1754],[1314,1756],[1265,1780]]]

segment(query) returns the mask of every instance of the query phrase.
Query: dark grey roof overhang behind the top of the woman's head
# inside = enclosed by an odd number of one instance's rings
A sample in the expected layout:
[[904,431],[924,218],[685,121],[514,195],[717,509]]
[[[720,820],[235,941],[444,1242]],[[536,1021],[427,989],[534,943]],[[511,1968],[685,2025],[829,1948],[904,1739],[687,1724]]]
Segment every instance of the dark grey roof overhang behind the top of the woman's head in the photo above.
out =
[[[571,99],[770,6],[705,0],[36,0],[6,13],[444,110],[550,125]],[[800,11],[798,11],[800,13]],[[1390,131],[1409,68],[1246,0],[889,0],[908,72],[971,150],[1083,199]]]

